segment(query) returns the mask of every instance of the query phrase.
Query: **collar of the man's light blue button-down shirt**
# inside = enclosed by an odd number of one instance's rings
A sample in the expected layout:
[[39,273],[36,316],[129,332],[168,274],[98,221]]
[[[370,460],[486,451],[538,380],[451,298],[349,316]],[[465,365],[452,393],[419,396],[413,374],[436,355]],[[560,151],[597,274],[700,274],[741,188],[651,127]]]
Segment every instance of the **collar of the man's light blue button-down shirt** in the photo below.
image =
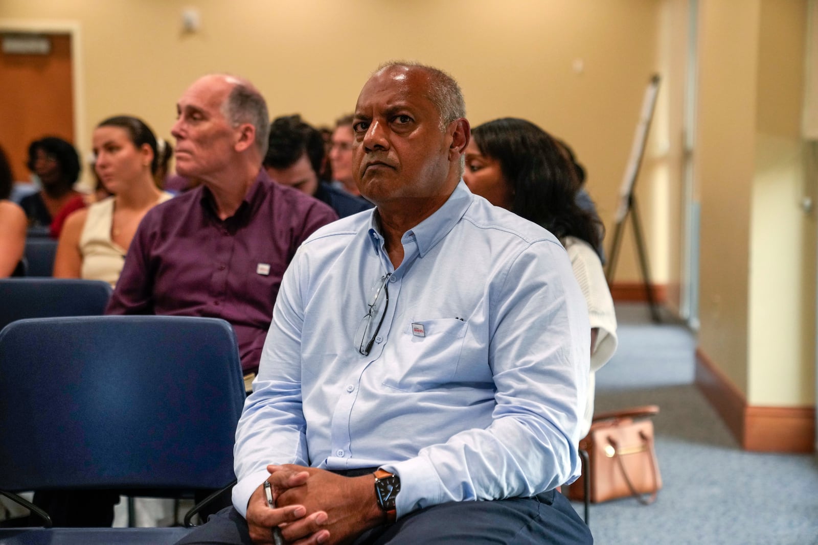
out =
[[[435,210],[424,221],[407,230],[403,234],[401,242],[406,244],[414,241],[417,246],[418,256],[424,257],[426,252],[434,248],[434,245],[448,235],[458,221],[461,221],[461,217],[469,209],[473,199],[474,194],[471,193],[461,179],[455,190],[443,203],[443,206]],[[373,212],[369,223],[369,239],[375,253],[378,253],[383,245],[383,236],[380,235],[380,225],[377,218],[378,215]]]

